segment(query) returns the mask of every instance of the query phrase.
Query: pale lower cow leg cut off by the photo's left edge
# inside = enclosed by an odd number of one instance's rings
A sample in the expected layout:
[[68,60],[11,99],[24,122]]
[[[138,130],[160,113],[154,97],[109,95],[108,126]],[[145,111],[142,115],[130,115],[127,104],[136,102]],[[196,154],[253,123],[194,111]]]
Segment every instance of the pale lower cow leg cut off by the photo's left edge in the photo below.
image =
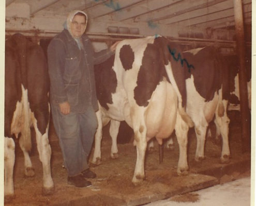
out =
[[14,196],[13,166],[15,162],[15,144],[12,138],[5,138],[5,199]]

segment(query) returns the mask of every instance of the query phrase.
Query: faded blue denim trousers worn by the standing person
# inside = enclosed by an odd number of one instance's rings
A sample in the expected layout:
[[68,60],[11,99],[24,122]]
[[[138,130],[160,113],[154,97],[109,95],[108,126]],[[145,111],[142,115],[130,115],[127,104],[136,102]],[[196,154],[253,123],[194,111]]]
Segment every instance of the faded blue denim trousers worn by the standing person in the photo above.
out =
[[51,111],[68,176],[79,175],[88,168],[87,159],[98,126],[95,111],[91,106],[84,113],[64,115],[54,104],[51,104]]

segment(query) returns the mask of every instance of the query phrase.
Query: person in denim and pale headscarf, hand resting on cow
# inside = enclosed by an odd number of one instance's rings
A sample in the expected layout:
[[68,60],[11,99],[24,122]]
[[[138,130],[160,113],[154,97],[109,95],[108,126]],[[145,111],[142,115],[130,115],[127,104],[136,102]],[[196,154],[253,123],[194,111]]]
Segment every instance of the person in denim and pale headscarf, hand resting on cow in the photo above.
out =
[[69,13],[64,30],[48,46],[50,102],[53,124],[62,149],[68,183],[77,187],[92,185],[87,178],[96,174],[89,169],[88,155],[97,129],[97,97],[94,64],[114,54],[110,49],[95,53],[84,31],[87,15]]

